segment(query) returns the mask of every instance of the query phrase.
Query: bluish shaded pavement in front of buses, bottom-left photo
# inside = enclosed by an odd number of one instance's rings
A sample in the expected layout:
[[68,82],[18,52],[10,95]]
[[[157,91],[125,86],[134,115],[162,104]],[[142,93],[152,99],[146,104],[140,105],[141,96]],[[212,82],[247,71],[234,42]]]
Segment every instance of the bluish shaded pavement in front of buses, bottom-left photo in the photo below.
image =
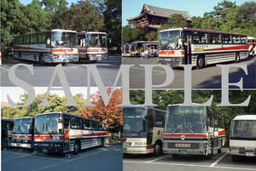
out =
[[2,151],[2,171],[121,171],[122,159],[122,145],[84,150],[70,159],[15,149]]

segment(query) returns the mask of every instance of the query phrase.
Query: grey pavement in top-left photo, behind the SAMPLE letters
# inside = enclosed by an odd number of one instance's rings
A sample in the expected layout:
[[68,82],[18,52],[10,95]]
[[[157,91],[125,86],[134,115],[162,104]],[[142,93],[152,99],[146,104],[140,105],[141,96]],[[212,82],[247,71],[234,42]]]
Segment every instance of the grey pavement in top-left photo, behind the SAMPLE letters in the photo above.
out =
[[[9,81],[8,71],[9,68],[15,64],[20,63],[19,60],[3,60],[1,66],[1,86],[11,87],[15,84]],[[26,83],[30,83],[33,87],[48,87],[51,77],[55,71],[55,65],[41,66],[31,61],[21,61],[21,63],[33,65],[34,74],[32,75],[26,68],[20,67],[16,71],[17,77],[22,78]],[[102,60],[96,63],[84,62],[84,63],[68,63],[64,67],[64,71],[67,77],[69,86],[73,87],[85,87],[87,86],[87,65],[96,65],[97,69],[102,77],[102,82],[105,86],[113,86],[115,77],[119,71],[119,66],[122,63],[120,56],[110,56],[109,60]],[[84,66],[84,67],[83,67]],[[91,86],[96,86],[94,78],[90,79]],[[118,86],[121,85],[119,79]],[[58,78],[55,78],[54,86],[61,86]]]

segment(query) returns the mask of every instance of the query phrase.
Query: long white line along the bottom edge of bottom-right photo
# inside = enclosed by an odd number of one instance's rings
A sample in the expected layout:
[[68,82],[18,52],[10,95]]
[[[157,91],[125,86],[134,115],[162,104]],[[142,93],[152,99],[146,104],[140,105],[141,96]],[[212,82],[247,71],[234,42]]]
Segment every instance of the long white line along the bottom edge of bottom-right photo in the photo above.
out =
[[[198,165],[198,164],[183,164],[183,163],[172,163],[172,162],[131,162],[131,161],[123,161],[130,163],[140,163],[140,164],[163,164],[163,165],[176,165],[176,166],[188,166],[188,167],[201,167],[201,168],[212,168],[209,165]],[[224,169],[232,169],[232,170],[255,170],[256,168],[232,168],[232,167],[222,167],[222,166],[214,166],[213,168],[224,168]]]

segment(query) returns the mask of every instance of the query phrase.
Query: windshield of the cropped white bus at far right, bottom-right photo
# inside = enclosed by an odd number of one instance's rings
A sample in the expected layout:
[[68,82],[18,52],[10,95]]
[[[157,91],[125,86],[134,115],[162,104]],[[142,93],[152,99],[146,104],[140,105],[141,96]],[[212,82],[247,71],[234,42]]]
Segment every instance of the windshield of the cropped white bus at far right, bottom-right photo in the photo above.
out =
[[256,139],[255,120],[234,120],[230,128],[230,138],[233,139]]

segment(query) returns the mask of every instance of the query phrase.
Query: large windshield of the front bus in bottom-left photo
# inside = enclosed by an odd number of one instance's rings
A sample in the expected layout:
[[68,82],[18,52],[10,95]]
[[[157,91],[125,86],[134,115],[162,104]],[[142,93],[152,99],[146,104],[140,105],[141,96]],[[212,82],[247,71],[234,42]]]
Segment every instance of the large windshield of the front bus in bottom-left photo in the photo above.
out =
[[36,116],[34,134],[58,134],[59,115],[59,113],[51,113]]

